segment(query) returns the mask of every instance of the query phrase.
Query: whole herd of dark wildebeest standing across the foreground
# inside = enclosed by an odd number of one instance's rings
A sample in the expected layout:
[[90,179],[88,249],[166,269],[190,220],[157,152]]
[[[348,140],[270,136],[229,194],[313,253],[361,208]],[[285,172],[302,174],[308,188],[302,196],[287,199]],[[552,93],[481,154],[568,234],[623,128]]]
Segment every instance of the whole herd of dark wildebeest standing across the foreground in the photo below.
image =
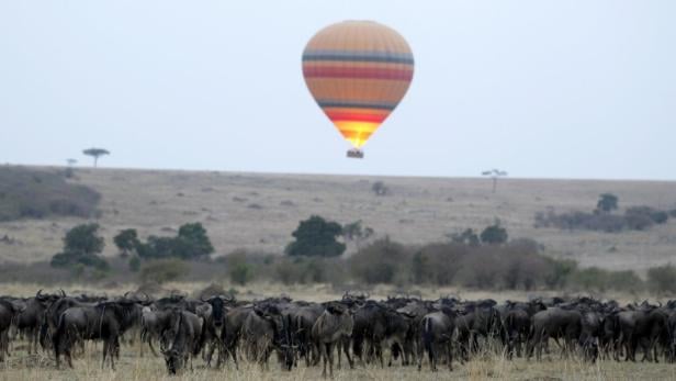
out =
[[498,304],[452,296],[375,301],[346,292],[340,300],[314,303],[286,296],[153,299],[127,292],[105,298],[41,290],[33,298],[0,296],[0,361],[20,337],[29,354],[42,347],[54,356],[57,368],[61,357],[72,367],[86,340],[100,340],[101,366],[109,359],[113,369],[120,351],[136,339],[139,356],[144,349],[160,356],[159,347],[170,374],[192,369],[200,357],[206,367],[232,360],[237,369],[244,356],[267,369],[273,354],[285,370],[323,362],[323,376],[327,365],[333,376],[336,355],[338,367],[345,355],[350,368],[356,362],[384,367],[386,358],[387,366],[401,361],[418,370],[437,370],[441,363],[452,370],[453,357],[464,362],[486,352],[540,360],[545,351],[594,362],[599,357],[636,361],[642,351],[641,361],[657,362],[676,359],[676,301],[620,305],[583,296]]

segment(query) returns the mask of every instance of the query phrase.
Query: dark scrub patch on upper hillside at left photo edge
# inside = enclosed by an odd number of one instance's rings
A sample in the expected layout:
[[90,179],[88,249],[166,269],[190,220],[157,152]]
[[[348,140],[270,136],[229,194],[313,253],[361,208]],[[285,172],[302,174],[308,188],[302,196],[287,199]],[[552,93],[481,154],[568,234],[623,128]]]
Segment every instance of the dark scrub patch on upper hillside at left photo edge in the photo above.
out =
[[0,166],[0,222],[54,215],[97,215],[101,194],[68,183],[61,173]]

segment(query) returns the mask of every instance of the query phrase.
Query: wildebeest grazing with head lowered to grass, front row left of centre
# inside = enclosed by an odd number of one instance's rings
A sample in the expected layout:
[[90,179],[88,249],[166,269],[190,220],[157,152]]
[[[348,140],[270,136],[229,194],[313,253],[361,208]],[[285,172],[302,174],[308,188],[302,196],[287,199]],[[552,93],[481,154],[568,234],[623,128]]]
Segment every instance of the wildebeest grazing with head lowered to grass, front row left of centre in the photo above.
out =
[[204,318],[180,309],[167,312],[167,328],[162,333],[167,341],[162,348],[167,371],[176,374],[189,361],[192,370],[192,357],[200,354],[204,345]]

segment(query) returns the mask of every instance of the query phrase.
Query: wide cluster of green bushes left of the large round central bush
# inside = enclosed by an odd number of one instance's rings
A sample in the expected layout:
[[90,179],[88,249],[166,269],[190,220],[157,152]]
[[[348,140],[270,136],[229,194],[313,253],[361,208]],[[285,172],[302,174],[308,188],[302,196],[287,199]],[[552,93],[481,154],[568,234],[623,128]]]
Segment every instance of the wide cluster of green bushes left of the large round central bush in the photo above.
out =
[[145,244],[136,246],[143,259],[181,258],[185,260],[204,258],[214,251],[206,229],[201,223],[184,224],[176,237],[149,236]]

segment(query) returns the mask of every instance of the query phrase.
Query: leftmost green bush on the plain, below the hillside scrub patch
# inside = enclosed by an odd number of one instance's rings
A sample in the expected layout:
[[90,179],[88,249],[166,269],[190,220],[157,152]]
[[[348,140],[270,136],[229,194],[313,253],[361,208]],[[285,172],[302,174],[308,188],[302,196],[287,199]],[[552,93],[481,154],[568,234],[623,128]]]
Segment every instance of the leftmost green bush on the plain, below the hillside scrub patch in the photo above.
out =
[[52,257],[53,267],[70,267],[80,265],[100,271],[108,271],[105,259],[98,256],[105,243],[97,235],[98,224],[77,225],[64,237],[64,250]]

